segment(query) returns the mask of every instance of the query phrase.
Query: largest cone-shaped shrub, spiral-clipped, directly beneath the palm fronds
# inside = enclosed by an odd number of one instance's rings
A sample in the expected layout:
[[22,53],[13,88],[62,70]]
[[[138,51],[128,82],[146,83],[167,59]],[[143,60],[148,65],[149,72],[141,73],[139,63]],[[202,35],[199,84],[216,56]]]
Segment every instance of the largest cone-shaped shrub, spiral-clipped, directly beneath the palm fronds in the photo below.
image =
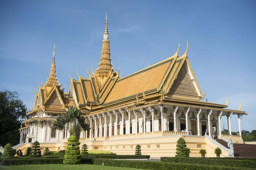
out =
[[80,163],[80,150],[79,150],[79,139],[76,135],[71,135],[67,140],[67,148],[65,151],[64,164],[79,164]]

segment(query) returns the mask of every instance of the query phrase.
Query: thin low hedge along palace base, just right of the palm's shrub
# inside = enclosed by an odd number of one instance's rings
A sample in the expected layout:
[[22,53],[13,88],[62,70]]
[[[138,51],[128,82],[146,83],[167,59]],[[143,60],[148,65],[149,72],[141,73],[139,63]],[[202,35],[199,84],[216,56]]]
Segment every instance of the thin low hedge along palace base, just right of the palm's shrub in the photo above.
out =
[[96,158],[105,158],[105,159],[149,159],[149,155],[81,155],[81,158],[86,159],[96,159]]

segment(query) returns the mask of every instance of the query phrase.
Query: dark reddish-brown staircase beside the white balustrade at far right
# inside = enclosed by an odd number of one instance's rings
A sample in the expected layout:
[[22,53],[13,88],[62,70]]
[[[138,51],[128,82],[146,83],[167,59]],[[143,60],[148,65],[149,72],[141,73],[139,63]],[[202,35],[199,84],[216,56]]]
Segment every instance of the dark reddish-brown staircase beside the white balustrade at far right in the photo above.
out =
[[[223,139],[216,139],[216,141],[227,147],[227,142]],[[235,157],[254,157],[256,158],[256,144],[233,144]],[[229,147],[227,147],[229,148]]]

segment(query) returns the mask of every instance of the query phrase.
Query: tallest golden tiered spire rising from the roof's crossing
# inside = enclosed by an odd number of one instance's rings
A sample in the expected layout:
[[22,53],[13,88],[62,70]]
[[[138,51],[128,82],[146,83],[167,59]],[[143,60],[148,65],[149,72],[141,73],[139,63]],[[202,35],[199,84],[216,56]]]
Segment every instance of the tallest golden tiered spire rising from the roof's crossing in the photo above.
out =
[[109,34],[108,34],[108,11],[106,12],[106,23],[105,23],[105,31],[103,34],[102,41],[102,52],[101,58],[99,62],[99,67],[95,71],[96,76],[99,78],[100,82],[104,82],[108,77],[109,73],[113,70],[110,58],[110,48],[109,48]]

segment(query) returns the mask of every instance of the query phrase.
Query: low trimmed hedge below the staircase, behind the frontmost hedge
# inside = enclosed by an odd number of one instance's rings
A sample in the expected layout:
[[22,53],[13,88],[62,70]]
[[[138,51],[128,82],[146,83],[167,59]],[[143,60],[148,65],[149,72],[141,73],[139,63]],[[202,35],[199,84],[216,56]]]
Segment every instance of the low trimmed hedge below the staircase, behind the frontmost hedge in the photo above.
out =
[[177,158],[177,157],[161,157],[162,162],[186,163],[186,164],[208,164],[228,167],[246,167],[255,168],[256,161],[248,160],[231,160],[231,159],[201,159],[201,158]]

